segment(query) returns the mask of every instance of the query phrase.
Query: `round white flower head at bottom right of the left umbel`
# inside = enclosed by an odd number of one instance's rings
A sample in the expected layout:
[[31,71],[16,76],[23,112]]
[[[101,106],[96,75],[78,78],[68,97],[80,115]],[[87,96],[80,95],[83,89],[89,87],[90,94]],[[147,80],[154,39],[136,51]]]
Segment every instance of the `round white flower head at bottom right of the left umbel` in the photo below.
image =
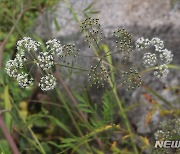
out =
[[53,75],[48,74],[40,79],[39,87],[43,91],[48,91],[54,89],[56,84],[56,78]]

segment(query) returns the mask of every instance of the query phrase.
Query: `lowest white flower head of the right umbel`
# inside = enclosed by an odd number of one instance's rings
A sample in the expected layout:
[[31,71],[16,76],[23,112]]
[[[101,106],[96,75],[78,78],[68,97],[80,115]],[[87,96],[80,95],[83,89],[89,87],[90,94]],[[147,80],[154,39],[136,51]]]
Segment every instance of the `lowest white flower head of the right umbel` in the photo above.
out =
[[169,69],[165,64],[157,66],[154,71],[154,75],[157,78],[164,78],[167,76],[168,73],[169,73]]

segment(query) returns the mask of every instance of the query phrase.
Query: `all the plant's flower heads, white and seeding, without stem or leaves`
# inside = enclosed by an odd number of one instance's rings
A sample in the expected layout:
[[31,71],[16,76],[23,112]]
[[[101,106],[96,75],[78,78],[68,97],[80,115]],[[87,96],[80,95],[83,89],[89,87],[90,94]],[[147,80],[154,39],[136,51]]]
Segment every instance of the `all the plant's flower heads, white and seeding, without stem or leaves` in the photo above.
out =
[[[113,52],[107,51],[105,54],[100,55],[101,46],[103,45],[103,30],[99,24],[99,19],[87,18],[81,24],[81,31],[85,34],[85,41],[89,43],[90,47],[99,51],[96,55],[100,56],[97,64],[91,66],[88,73],[89,81],[91,85],[104,86],[107,82],[109,74],[111,73],[109,66],[104,63],[108,63],[107,57],[111,54],[120,54],[126,61],[129,61],[131,54],[133,53],[132,35],[127,30],[121,28],[113,32],[115,37],[115,49]],[[56,80],[52,74],[52,68],[56,65],[60,67],[67,67],[73,69],[76,57],[79,55],[79,50],[75,44],[67,43],[62,45],[59,40],[52,39],[46,43],[46,50],[40,51],[40,43],[32,40],[30,37],[24,37],[17,42],[17,54],[14,60],[9,60],[6,64],[6,71],[10,77],[17,79],[19,85],[23,88],[33,84],[33,78],[31,76],[32,67],[36,66],[41,74],[41,80],[39,81],[40,88],[42,90],[52,90],[56,85]],[[95,47],[95,48],[94,48]],[[146,49],[152,49],[147,50]],[[173,59],[173,54],[168,49],[164,48],[164,42],[159,38],[139,38],[135,42],[135,49],[138,52],[144,52],[142,57],[142,64],[145,68],[154,67],[154,76],[157,78],[166,77],[169,73],[168,64]],[[32,64],[29,72],[23,72],[22,69],[25,65]],[[69,67],[68,67],[69,65]],[[112,64],[111,64],[112,65]],[[29,66],[29,65],[28,65]],[[139,68],[130,68],[129,70],[121,70],[122,82],[126,85],[128,90],[134,90],[142,83],[141,76],[137,71]],[[49,80],[50,76],[52,81]],[[22,83],[21,83],[22,80]],[[44,83],[43,83],[44,82]],[[51,83],[52,82],[52,83]],[[47,85],[49,84],[49,85]],[[49,86],[49,88],[48,88]],[[47,88],[45,88],[47,87]],[[50,88],[51,87],[51,88]]]

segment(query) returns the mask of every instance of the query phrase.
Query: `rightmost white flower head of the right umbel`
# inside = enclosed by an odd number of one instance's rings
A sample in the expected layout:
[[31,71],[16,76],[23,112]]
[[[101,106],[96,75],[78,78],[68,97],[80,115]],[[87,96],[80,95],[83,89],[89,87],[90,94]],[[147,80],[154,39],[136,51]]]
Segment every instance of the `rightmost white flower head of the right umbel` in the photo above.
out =
[[173,54],[171,53],[171,51],[163,49],[160,53],[160,59],[166,64],[169,64],[173,60]]

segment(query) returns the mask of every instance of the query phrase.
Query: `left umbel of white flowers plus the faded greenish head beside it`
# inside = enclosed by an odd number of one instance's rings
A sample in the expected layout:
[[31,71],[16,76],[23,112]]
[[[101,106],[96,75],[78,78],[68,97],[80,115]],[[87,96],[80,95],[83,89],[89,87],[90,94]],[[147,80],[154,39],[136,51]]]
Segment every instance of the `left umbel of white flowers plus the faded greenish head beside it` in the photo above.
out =
[[36,67],[41,73],[40,81],[37,81],[38,86],[43,91],[53,90],[57,82],[52,74],[52,68],[59,64],[59,59],[68,65],[72,64],[73,59],[68,58],[70,56],[75,58],[78,51],[74,44],[62,45],[57,39],[47,41],[46,51],[41,51],[40,42],[24,37],[17,42],[15,59],[6,63],[6,72],[17,80],[21,88],[29,88],[35,80],[31,77],[31,71]]

